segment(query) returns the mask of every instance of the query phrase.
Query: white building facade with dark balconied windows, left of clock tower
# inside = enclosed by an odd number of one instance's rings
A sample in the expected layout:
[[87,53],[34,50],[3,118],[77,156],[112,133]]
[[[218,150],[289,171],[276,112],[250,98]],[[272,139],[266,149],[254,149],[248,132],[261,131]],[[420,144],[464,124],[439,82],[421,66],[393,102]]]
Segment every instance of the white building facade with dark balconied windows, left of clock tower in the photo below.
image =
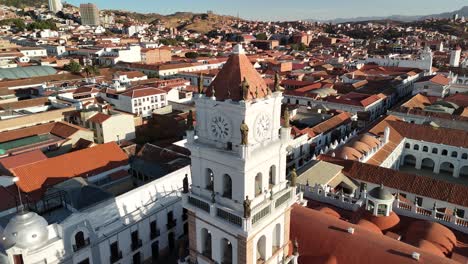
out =
[[[14,255],[21,255],[25,264],[77,264],[86,260],[91,264],[132,263],[137,254],[141,261],[151,259],[174,246],[184,233],[179,189],[186,174],[190,174],[189,167],[50,224],[44,246],[34,250],[8,248],[9,263],[16,263]],[[80,232],[84,244],[78,245]],[[133,232],[137,232],[138,239],[132,243]],[[118,252],[112,258],[114,242]]]

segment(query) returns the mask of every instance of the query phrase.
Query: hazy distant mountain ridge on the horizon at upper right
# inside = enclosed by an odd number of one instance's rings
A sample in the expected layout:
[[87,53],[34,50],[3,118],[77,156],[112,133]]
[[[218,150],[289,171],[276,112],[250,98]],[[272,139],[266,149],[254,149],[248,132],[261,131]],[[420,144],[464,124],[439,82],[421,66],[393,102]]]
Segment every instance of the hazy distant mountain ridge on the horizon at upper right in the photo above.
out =
[[[322,22],[327,23],[346,23],[346,22],[362,22],[362,21],[377,21],[377,20],[392,20],[392,21],[400,21],[400,22],[413,22],[417,20],[424,20],[430,18],[451,18],[453,15],[458,14],[459,17],[468,17],[468,6],[464,6],[459,10],[455,10],[453,12],[445,12],[440,14],[432,14],[432,15],[425,15],[425,16],[401,16],[401,15],[392,15],[387,17],[382,16],[371,16],[371,17],[354,17],[354,18],[337,18],[332,20],[324,20]],[[314,19],[310,19],[311,21],[316,21]]]

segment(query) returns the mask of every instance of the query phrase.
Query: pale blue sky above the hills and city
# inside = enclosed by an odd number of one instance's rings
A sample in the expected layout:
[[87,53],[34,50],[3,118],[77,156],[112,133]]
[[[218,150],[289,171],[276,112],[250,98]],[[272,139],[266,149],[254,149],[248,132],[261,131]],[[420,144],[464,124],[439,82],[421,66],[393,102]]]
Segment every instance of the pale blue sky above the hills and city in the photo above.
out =
[[179,11],[233,15],[249,20],[333,19],[359,16],[429,15],[451,12],[467,0],[66,0],[100,9],[172,14]]

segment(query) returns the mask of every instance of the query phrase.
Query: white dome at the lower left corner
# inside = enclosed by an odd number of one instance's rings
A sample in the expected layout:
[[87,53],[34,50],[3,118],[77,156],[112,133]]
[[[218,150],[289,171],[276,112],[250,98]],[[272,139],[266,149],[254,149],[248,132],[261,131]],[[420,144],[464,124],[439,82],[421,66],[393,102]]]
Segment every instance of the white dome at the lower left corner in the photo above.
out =
[[6,248],[38,248],[47,242],[47,221],[34,212],[21,211],[10,219],[3,230],[2,243]]

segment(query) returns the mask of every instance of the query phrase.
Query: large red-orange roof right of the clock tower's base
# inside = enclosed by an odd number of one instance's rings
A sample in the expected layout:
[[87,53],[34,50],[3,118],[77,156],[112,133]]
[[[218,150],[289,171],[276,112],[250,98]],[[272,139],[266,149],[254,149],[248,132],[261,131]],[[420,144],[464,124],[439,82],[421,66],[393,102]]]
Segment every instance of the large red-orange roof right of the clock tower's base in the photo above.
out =
[[[313,224],[311,224],[313,223]],[[404,242],[369,231],[365,227],[351,224],[322,212],[293,206],[291,212],[290,239],[299,243],[301,264],[330,263],[315,262],[317,259],[334,259],[331,263],[347,264],[405,264],[414,263],[413,252],[420,252],[422,263],[456,263],[406,244]],[[354,228],[349,234],[347,229]],[[313,260],[314,262],[308,262]]]

